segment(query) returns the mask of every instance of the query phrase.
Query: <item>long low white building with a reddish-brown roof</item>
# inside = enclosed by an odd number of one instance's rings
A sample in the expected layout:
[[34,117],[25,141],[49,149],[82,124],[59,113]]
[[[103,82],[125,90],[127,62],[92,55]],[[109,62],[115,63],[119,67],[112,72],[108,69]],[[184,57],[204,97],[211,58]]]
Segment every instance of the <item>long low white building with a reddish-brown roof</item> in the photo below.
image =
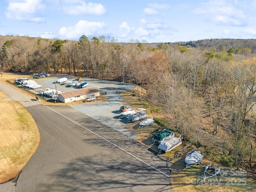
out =
[[89,88],[89,89],[81,89],[72,92],[66,92],[58,94],[58,100],[64,103],[82,100],[90,98],[90,96],[99,96],[100,89],[99,88]]

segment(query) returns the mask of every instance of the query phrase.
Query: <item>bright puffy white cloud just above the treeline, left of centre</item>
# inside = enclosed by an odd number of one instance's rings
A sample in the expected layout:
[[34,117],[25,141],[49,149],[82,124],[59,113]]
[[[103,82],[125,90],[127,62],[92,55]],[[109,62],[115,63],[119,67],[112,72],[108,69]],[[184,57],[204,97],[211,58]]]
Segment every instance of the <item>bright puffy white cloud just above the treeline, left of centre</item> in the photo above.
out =
[[105,26],[104,22],[89,22],[80,20],[76,25],[70,27],[62,27],[59,34],[66,38],[78,38],[79,36],[94,35],[98,29]]

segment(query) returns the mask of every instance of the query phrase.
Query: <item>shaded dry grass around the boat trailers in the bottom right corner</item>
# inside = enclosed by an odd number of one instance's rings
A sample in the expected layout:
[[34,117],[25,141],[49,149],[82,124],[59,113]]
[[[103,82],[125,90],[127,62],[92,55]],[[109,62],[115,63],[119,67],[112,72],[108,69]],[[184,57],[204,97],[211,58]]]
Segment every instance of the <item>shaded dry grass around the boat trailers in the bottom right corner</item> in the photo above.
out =
[[171,160],[171,163],[171,183],[174,192],[253,192],[256,189],[255,175],[224,166],[221,166],[218,176],[208,178],[201,184],[205,166],[211,163],[206,158],[202,164],[187,168],[186,171],[183,171],[186,167],[184,158]]

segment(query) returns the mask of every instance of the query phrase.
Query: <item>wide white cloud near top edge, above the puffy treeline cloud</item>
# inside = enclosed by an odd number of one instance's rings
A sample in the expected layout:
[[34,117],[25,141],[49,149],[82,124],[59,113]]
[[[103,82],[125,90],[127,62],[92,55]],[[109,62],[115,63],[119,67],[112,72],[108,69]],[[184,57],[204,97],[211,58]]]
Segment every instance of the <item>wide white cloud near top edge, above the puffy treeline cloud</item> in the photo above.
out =
[[82,2],[82,1],[79,1],[79,2],[75,1],[73,2],[73,4],[64,5],[63,9],[67,14],[70,14],[70,15],[80,15],[80,14],[102,15],[106,13],[106,9],[102,4],[92,3],[92,2],[89,2],[86,4],[85,2]]

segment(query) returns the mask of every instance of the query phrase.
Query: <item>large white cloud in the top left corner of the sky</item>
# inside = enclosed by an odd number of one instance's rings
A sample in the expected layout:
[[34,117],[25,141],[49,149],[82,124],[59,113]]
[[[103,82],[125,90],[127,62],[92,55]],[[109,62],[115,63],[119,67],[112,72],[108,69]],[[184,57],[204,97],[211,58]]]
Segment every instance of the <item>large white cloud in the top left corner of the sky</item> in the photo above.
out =
[[10,1],[5,15],[9,19],[28,20],[34,22],[44,22],[44,18],[36,17],[38,10],[43,10],[44,5],[41,0],[22,0],[21,2]]

